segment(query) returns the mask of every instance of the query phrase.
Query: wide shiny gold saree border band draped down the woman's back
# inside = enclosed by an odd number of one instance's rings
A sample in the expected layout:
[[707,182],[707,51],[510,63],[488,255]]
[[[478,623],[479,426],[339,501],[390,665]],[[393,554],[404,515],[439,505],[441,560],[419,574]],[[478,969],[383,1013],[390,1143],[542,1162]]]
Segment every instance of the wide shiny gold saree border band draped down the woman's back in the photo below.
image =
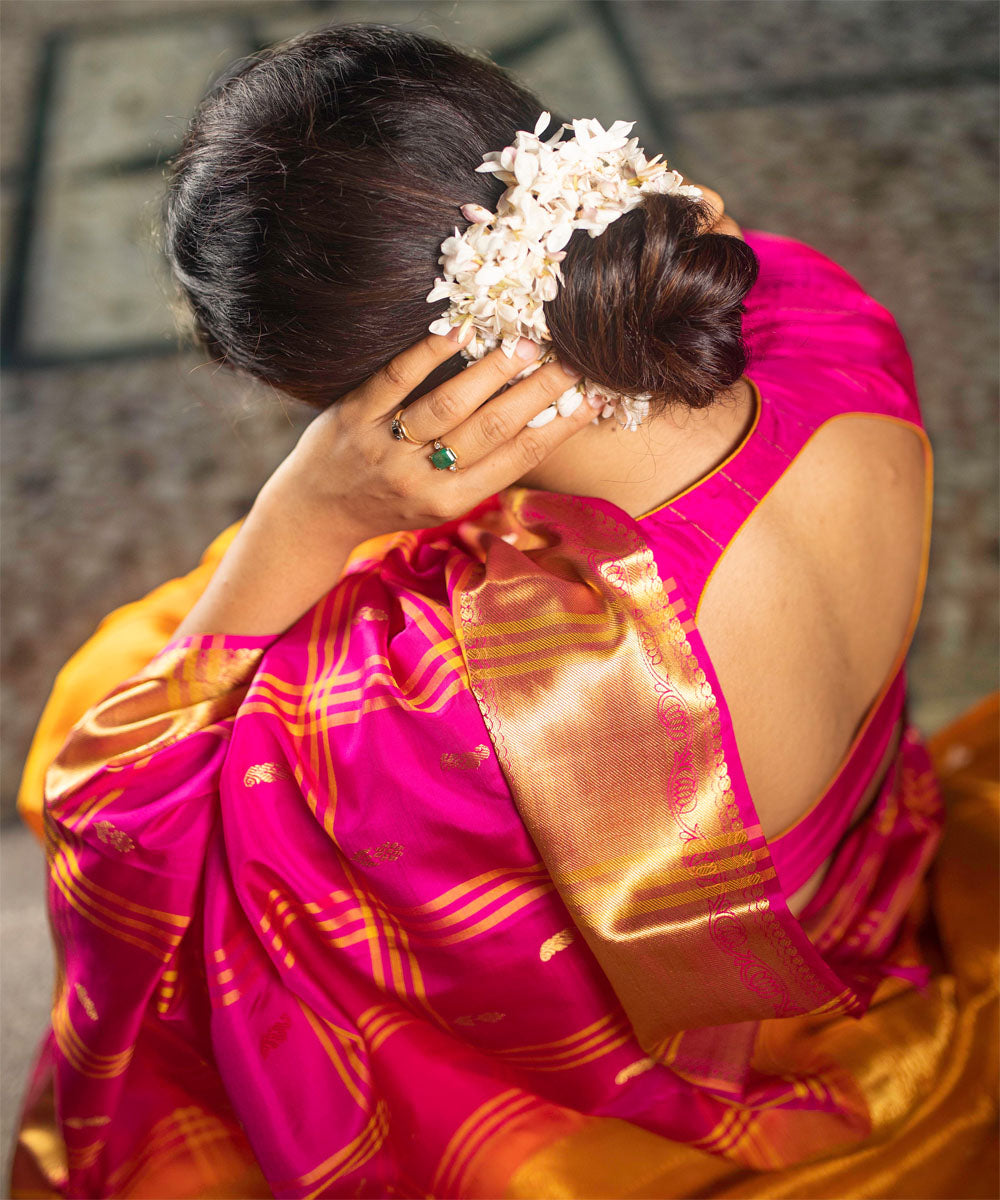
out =
[[771,908],[689,610],[641,529],[583,497],[503,503],[503,536],[456,584],[456,628],[517,810],[640,1044],[731,1022],[737,998],[747,1020],[830,1003]]

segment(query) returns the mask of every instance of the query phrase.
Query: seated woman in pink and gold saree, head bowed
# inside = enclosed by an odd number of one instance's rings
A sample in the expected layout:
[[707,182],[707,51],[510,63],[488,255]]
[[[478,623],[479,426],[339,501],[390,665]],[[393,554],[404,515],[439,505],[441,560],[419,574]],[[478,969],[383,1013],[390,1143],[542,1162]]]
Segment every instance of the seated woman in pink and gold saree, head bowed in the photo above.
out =
[[[198,332],[323,412],[43,722],[60,971],[16,1194],[990,1193],[956,886],[982,902],[990,800],[928,874],[905,347],[617,127],[634,178],[571,236],[517,224],[539,109],[348,26],[196,114],[166,240]],[[502,212],[561,278],[490,350],[468,314],[513,284],[460,293]]]

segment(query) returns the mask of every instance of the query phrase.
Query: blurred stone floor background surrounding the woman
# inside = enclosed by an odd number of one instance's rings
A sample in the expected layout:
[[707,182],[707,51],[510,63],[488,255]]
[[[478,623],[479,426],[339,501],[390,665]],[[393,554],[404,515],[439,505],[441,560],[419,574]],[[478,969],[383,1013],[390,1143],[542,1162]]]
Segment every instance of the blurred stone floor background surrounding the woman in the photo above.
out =
[[831,256],[897,317],[936,455],[914,718],[996,686],[993,0],[2,0],[2,1147],[47,1020],[42,857],[14,797],[52,680],[110,608],[187,571],[305,424],[184,348],[163,163],[232,59],[340,20],[487,52],[742,224]]

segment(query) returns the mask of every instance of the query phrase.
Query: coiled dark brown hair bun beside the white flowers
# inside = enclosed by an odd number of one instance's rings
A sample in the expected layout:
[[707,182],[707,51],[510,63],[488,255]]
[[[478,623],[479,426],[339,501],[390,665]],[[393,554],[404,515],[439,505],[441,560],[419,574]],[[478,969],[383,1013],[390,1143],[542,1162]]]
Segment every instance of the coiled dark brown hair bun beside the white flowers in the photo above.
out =
[[545,306],[559,359],[653,406],[705,408],[747,367],[743,301],[758,258],[739,238],[703,233],[703,200],[647,196],[599,238],[574,234],[564,282]]

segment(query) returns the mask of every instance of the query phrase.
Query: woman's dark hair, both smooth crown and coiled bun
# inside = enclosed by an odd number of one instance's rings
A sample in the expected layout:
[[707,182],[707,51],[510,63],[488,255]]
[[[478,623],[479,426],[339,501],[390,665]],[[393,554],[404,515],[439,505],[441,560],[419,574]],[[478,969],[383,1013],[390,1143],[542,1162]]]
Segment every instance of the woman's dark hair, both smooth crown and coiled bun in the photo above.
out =
[[[324,408],[421,337],[460,205],[495,209],[483,155],[538,100],[489,60],[384,25],[335,25],[234,64],[167,174],[163,242],[209,354]],[[587,115],[587,114],[583,114]],[[577,232],[546,316],[587,378],[702,407],[747,365],[756,257],[700,233],[706,210],[648,197]],[[461,367],[445,364],[426,390]]]

